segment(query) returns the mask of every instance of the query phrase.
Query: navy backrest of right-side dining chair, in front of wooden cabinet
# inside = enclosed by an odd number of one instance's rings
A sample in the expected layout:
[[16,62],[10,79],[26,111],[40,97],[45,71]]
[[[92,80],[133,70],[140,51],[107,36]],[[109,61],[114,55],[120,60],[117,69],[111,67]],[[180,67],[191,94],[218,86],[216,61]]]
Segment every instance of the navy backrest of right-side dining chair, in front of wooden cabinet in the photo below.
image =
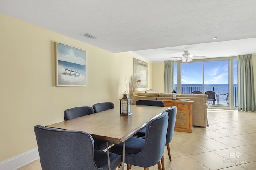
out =
[[167,109],[166,112],[169,115],[169,119],[168,119],[168,127],[167,127],[165,145],[169,144],[172,141],[172,137],[174,134],[174,126],[175,126],[175,121],[176,121],[176,115],[177,115],[177,107],[172,106],[170,109]]

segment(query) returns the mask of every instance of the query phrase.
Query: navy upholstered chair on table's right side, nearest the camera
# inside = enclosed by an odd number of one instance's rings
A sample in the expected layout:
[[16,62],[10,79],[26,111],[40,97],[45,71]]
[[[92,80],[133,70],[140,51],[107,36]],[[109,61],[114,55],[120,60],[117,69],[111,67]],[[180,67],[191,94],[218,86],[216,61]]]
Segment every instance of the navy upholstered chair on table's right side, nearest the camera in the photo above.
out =
[[[168,126],[168,113],[164,112],[149,121],[146,125],[145,139],[131,137],[125,141],[125,161],[127,167],[130,165],[144,167],[158,164],[164,154],[166,132]],[[123,143],[115,144],[109,149],[110,152],[123,154]]]

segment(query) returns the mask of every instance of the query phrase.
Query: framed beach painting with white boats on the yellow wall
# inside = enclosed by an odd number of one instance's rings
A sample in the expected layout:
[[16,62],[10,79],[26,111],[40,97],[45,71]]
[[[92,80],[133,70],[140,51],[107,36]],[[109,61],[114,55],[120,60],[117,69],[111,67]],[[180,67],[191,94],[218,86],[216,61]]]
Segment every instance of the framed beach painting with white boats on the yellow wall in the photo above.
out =
[[56,86],[86,85],[86,51],[56,42]]

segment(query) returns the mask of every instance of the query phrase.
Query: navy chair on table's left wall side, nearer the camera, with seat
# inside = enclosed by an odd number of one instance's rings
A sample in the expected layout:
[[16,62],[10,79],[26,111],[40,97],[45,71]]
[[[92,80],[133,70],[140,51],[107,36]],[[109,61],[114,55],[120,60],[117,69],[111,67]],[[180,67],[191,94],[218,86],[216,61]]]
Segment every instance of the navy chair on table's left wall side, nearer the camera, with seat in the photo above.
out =
[[[85,115],[90,115],[94,113],[94,109],[90,106],[81,106],[81,107],[73,107],[70,109],[66,109],[64,111],[64,119],[65,121],[69,119],[74,119],[77,117],[85,116]],[[108,146],[112,145],[113,143],[108,142]],[[106,142],[98,139],[94,139],[94,149],[98,150],[104,150],[106,149]]]

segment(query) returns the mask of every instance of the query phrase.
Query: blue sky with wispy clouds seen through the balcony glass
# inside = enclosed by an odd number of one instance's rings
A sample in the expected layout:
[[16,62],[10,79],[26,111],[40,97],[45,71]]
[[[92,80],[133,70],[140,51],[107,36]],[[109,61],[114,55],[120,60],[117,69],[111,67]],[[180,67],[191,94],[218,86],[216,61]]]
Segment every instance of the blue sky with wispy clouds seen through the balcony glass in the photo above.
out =
[[[177,75],[177,64],[174,65],[174,74]],[[175,76],[175,84],[177,79]],[[203,83],[203,63],[181,64],[182,84]],[[204,62],[204,84],[228,84],[228,60]],[[237,84],[237,60],[234,60],[234,84]]]

